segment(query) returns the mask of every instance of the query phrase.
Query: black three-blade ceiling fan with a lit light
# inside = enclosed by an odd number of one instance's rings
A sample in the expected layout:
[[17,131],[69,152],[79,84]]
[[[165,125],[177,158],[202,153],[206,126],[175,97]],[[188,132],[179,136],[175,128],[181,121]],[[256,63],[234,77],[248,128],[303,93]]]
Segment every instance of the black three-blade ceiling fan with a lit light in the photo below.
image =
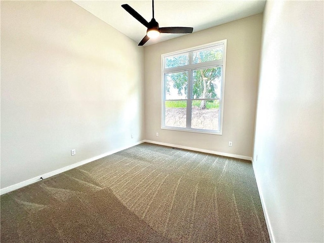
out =
[[192,27],[159,27],[158,23],[154,19],[154,0],[152,0],[152,13],[153,17],[150,22],[147,22],[139,13],[137,13],[131,6],[128,4],[121,5],[127,12],[129,12],[135,19],[141,22],[146,28],[146,35],[142,39],[142,41],[138,44],[139,46],[143,46],[149,38],[155,38],[159,36],[160,33],[192,33]]

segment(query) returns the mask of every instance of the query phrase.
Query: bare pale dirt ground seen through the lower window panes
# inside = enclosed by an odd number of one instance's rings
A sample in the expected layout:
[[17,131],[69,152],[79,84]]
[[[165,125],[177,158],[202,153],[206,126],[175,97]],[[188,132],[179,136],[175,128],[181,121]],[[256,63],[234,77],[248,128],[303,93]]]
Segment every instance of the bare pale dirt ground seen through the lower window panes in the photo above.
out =
[[[191,128],[218,130],[219,109],[192,108]],[[186,108],[166,108],[166,126],[186,127]]]

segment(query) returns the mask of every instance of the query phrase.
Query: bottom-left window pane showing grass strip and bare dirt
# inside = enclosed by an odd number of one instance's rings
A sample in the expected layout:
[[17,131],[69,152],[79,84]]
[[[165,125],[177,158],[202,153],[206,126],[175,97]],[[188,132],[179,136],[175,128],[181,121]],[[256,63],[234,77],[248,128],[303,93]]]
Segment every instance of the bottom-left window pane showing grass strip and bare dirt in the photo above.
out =
[[187,101],[166,101],[165,105],[165,125],[185,128]]

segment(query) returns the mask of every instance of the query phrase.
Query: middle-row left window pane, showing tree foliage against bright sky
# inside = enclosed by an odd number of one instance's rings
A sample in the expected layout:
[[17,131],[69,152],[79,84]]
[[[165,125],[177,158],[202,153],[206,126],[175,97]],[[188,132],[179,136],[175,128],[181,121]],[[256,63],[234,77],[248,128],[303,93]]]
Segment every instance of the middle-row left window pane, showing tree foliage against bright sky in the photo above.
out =
[[187,99],[188,72],[174,72],[165,74],[165,92],[167,100]]

